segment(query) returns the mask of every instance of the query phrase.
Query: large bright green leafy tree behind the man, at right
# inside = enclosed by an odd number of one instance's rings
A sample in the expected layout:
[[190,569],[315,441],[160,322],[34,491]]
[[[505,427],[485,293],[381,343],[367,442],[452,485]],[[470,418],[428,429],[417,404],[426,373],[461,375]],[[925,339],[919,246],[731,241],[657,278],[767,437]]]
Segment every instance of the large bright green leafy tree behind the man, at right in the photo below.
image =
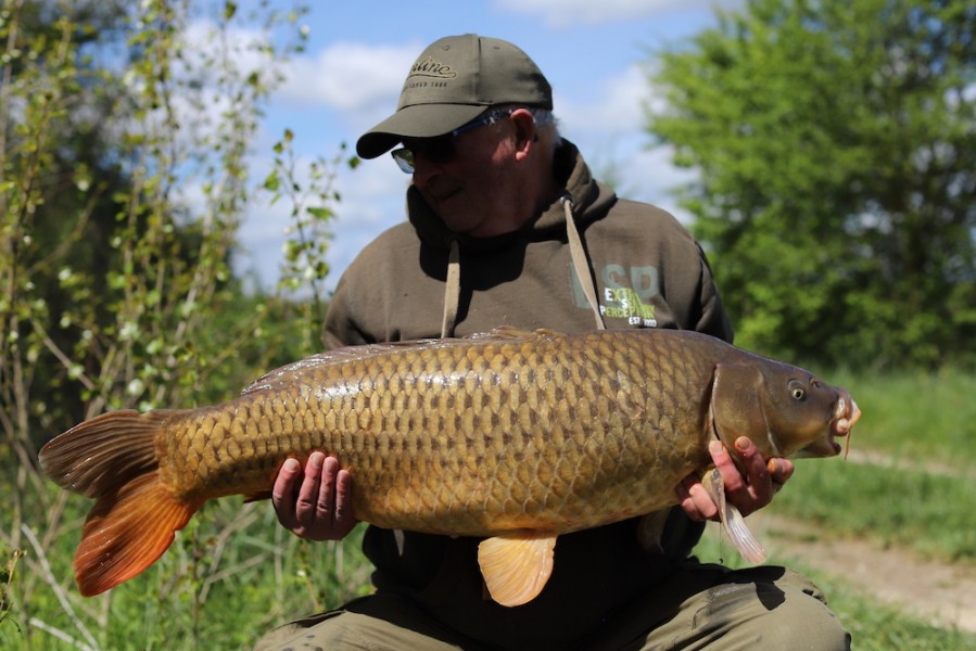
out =
[[651,81],[740,344],[976,360],[976,5],[750,0]]

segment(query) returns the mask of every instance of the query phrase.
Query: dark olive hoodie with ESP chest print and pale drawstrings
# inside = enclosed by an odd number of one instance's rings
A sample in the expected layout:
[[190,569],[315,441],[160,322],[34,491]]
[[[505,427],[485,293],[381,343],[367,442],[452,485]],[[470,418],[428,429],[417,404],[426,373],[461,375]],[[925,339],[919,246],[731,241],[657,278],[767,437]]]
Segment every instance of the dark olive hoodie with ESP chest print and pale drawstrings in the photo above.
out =
[[[618,199],[565,140],[554,167],[569,203],[560,199],[521,230],[497,238],[452,233],[410,188],[409,224],[377,238],[340,280],[326,345],[438,336],[452,302],[456,314],[447,318],[447,332],[458,336],[497,326],[593,330],[586,288],[595,290],[607,328],[697,330],[732,341],[708,261],[674,217]],[[591,271],[582,282],[568,243],[567,205]],[[453,247],[459,283],[447,280]],[[449,628],[503,648],[558,648],[659,580],[701,531],[674,509],[663,554],[639,546],[635,521],[561,536],[546,588],[517,608],[484,599],[477,540],[405,533],[401,550],[392,532],[370,526],[364,551],[377,567],[377,589],[415,599]]]

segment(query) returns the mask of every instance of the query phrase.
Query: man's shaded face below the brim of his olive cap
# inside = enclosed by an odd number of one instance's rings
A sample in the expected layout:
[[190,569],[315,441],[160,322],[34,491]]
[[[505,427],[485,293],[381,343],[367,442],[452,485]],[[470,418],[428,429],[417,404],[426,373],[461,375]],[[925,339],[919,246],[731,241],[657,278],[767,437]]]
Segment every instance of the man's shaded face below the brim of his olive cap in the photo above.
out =
[[443,162],[424,154],[422,139],[404,144],[414,152],[414,186],[447,228],[487,238],[521,226],[525,206],[518,205],[519,170],[509,119],[455,137],[454,153]]

